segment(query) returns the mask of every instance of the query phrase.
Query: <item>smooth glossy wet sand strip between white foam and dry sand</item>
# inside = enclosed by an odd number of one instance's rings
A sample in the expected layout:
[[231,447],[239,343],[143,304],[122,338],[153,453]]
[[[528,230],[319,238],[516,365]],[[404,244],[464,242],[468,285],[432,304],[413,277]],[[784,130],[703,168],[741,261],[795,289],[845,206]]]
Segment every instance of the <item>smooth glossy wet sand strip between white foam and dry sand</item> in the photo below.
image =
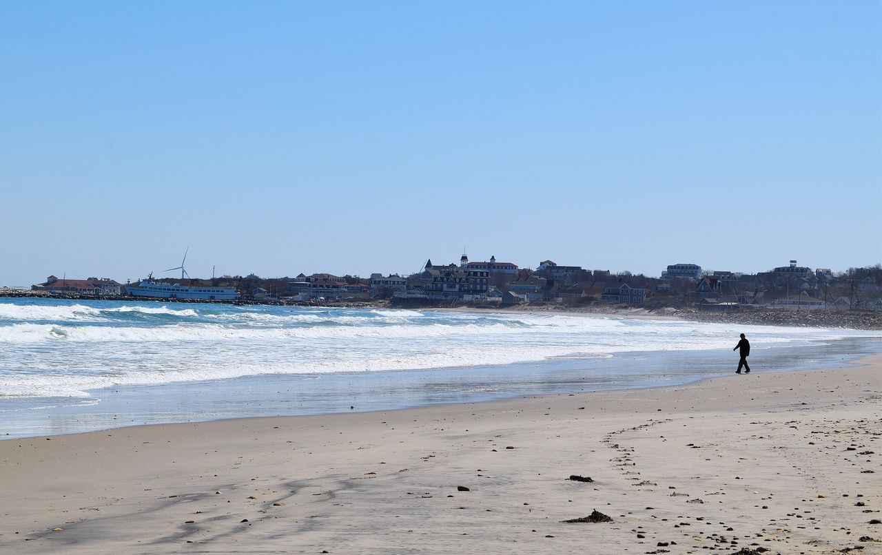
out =
[[[847,367],[880,354],[882,338],[771,345],[751,364],[764,374]],[[728,375],[734,361],[716,350],[624,351],[601,359],[377,373],[254,374],[231,379],[89,389],[89,397],[6,399],[0,442],[112,431],[138,425],[235,418],[370,414],[521,396],[623,392],[698,383]],[[635,370],[639,368],[639,370]],[[245,392],[244,394],[242,392]],[[350,406],[352,405],[352,406]]]

